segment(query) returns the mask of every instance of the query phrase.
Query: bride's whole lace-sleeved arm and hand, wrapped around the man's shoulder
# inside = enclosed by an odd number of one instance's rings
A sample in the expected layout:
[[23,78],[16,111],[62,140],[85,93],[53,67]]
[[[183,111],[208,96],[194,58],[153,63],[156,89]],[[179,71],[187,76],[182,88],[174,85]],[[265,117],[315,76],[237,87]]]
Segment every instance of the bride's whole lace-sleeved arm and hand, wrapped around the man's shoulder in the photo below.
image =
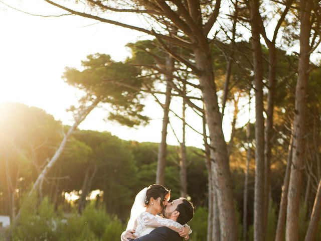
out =
[[172,230],[176,231],[176,232],[180,232],[180,231],[185,231],[185,235],[192,233],[192,229],[189,226],[186,225],[182,225],[179,222],[176,222],[174,220],[171,219],[167,219],[167,218],[162,218],[159,216],[154,216],[152,214],[150,215],[145,215],[144,217],[144,224],[147,227],[169,227]]

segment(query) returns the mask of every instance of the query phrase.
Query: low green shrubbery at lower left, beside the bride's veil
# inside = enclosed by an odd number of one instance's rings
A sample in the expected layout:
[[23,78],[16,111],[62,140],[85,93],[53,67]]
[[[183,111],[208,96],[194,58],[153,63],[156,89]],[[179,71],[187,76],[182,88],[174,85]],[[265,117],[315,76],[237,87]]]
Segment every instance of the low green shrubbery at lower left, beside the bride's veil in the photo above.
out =
[[14,241],[114,241],[120,239],[125,230],[116,216],[92,204],[87,205],[79,215],[76,210],[69,214],[55,212],[47,197],[39,206],[36,203],[35,194],[22,208],[19,224],[13,230]]

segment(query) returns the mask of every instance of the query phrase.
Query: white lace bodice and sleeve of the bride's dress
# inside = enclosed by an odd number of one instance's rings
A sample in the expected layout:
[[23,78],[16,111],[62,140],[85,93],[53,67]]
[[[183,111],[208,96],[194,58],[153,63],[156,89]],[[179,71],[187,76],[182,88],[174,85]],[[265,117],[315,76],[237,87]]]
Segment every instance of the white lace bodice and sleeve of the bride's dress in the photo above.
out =
[[166,226],[174,231],[179,232],[183,228],[183,225],[173,221],[171,219],[162,218],[158,215],[154,216],[149,212],[142,212],[135,221],[136,232],[134,233],[137,237],[141,237],[143,235],[151,232],[155,227]]

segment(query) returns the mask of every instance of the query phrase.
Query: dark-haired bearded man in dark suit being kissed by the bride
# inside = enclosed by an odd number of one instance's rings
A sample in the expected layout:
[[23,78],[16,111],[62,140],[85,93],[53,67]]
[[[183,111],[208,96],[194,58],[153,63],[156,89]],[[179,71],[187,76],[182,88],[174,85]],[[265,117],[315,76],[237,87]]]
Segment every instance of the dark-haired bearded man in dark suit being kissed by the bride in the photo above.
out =
[[[193,215],[193,204],[184,197],[169,202],[163,211],[163,216],[177,221],[182,225],[189,222],[193,218]],[[127,238],[129,238],[131,241],[182,241],[179,233],[168,227],[156,227],[149,234],[136,239],[132,239],[135,238],[133,232],[134,230],[124,231],[121,234],[121,240],[127,241]]]

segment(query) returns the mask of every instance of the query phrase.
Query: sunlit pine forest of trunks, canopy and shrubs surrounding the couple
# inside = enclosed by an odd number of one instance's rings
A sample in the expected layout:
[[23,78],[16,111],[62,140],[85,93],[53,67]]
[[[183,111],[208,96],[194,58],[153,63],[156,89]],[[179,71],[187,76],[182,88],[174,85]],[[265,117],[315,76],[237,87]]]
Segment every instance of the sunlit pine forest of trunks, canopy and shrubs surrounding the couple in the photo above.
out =
[[[124,61],[95,53],[65,69],[83,93],[71,126],[1,105],[4,239],[117,240],[154,182],[195,204],[194,241],[321,237],[320,1],[44,2],[152,37],[128,43]],[[164,112],[159,144],[77,129],[102,105],[110,122],[146,125],[147,96]],[[186,147],[187,129],[204,148]]]

